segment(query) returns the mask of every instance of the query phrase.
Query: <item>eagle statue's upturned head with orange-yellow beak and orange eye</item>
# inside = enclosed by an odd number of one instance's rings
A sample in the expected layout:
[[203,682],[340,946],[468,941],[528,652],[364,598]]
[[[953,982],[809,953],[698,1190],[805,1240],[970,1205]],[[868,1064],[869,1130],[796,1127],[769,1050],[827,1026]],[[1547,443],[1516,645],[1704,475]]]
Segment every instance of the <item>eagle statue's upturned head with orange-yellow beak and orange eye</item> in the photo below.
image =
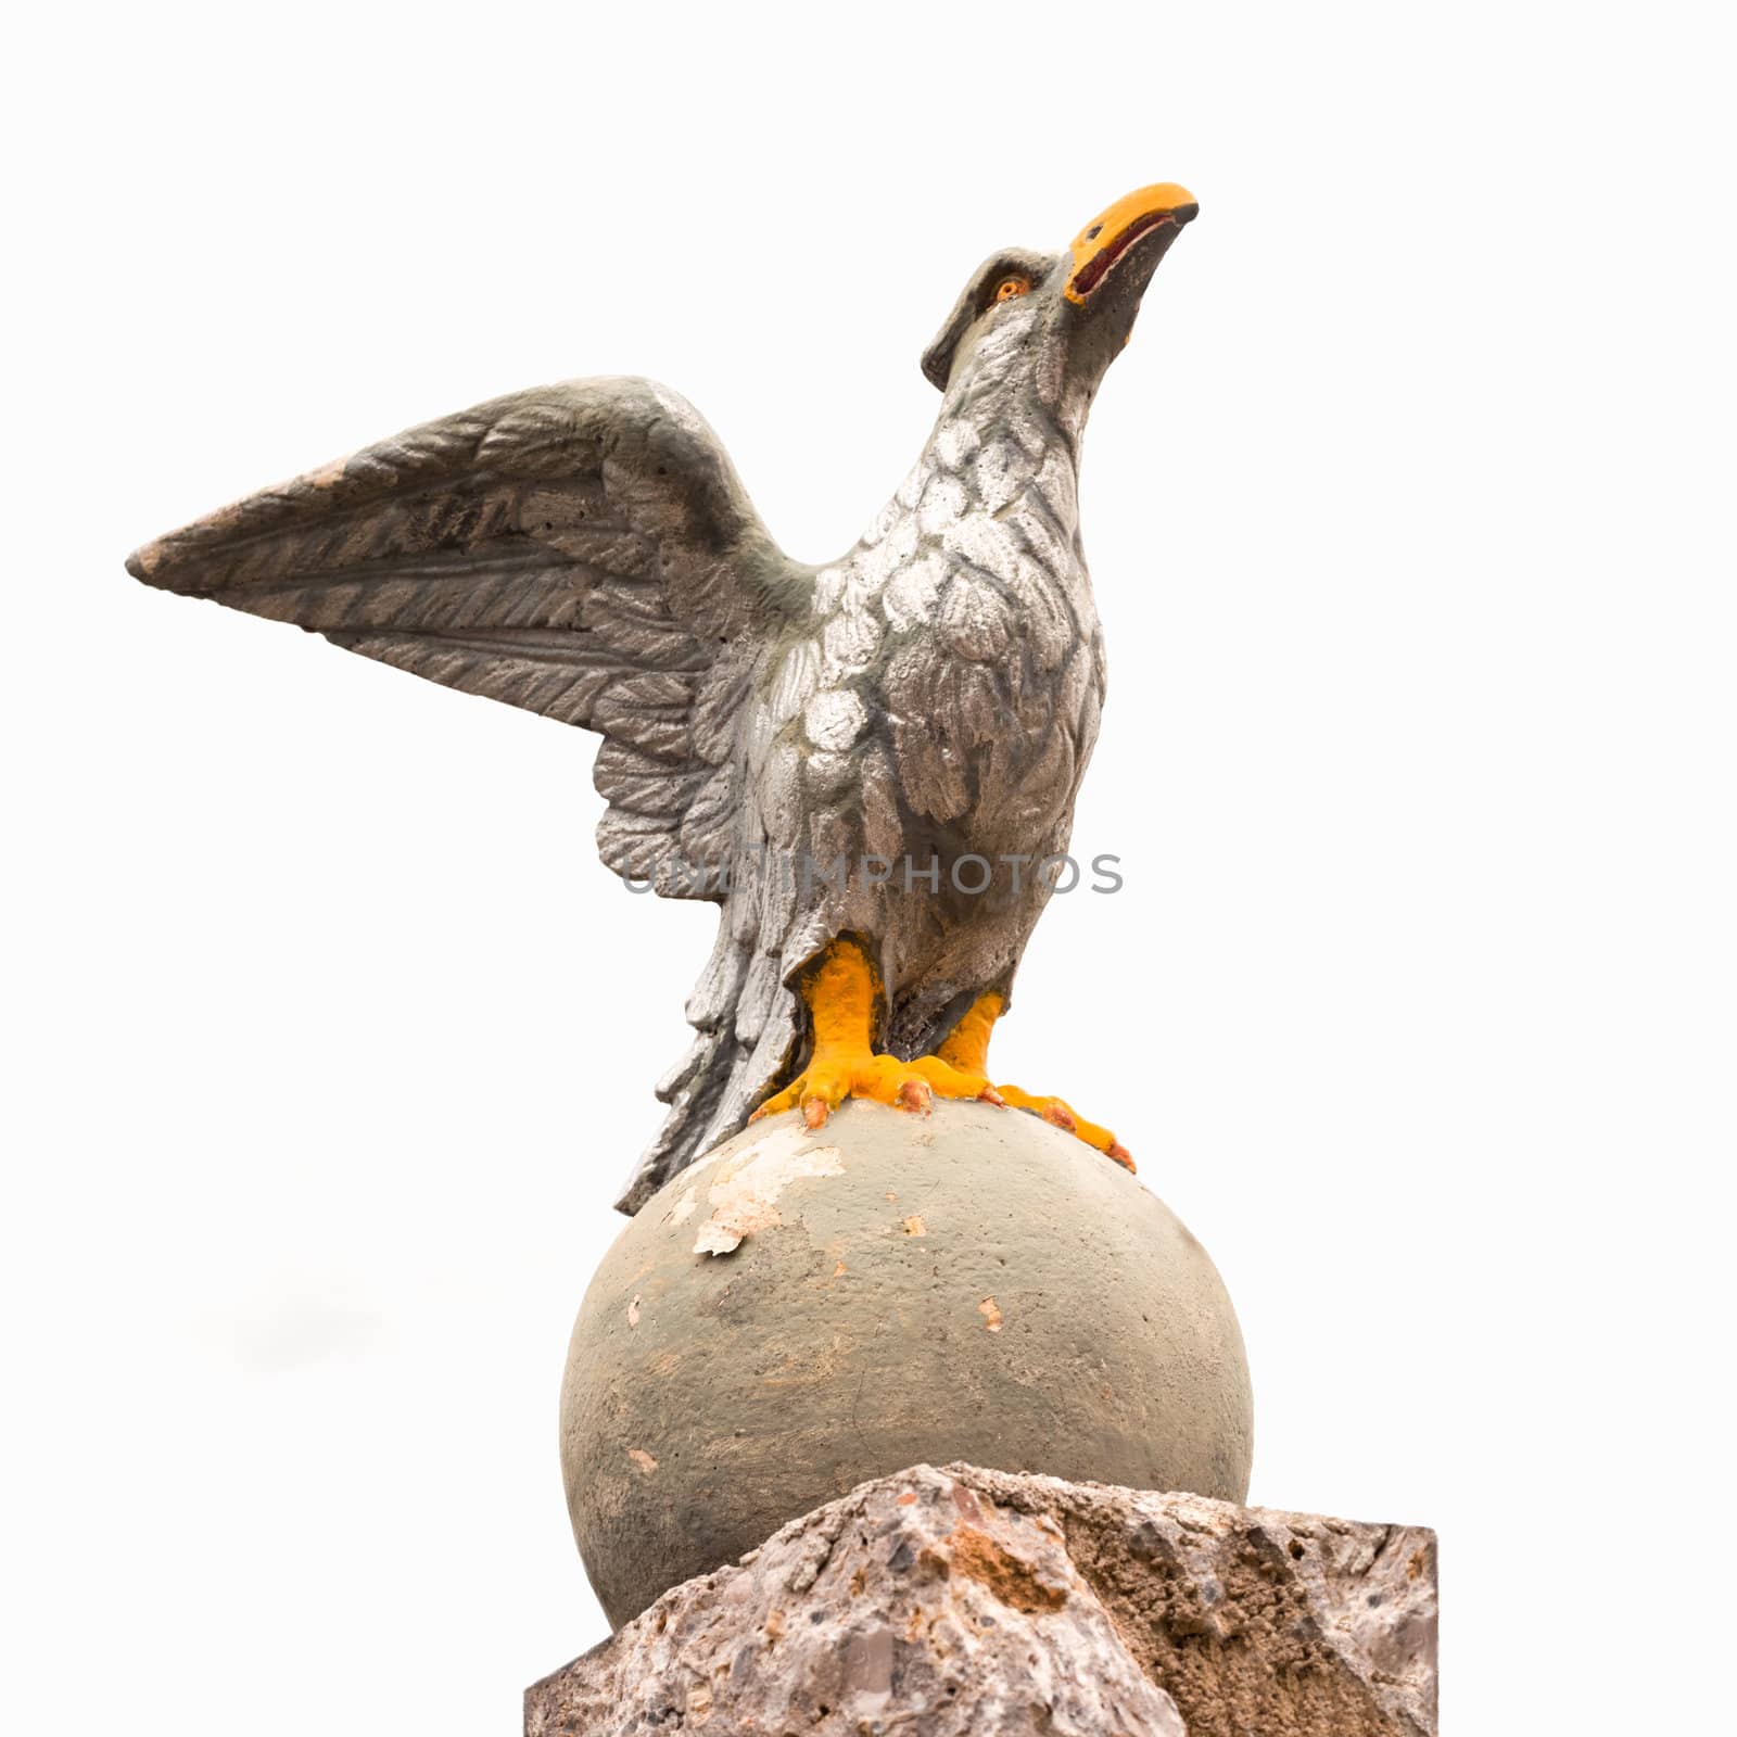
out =
[[980,351],[1013,339],[1032,373],[1089,401],[1127,342],[1159,261],[1199,210],[1186,188],[1162,181],[1100,212],[1061,254],[990,254],[922,353],[922,372],[950,393],[968,384]]

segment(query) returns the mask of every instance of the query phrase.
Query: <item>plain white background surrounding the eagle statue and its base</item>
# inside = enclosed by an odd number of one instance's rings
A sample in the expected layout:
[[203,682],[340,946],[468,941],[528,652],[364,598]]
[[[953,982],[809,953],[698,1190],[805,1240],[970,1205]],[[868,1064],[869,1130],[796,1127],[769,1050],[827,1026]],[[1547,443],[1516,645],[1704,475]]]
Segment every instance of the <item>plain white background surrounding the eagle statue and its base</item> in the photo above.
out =
[[710,910],[592,742],[134,585],[636,372],[841,552],[1004,243],[1179,179],[1087,439],[1110,705],[999,1070],[1218,1258],[1254,1499],[1442,1532],[1450,1732],[1728,1650],[1713,9],[92,7],[7,99],[7,1730],[511,1732],[556,1391]]

